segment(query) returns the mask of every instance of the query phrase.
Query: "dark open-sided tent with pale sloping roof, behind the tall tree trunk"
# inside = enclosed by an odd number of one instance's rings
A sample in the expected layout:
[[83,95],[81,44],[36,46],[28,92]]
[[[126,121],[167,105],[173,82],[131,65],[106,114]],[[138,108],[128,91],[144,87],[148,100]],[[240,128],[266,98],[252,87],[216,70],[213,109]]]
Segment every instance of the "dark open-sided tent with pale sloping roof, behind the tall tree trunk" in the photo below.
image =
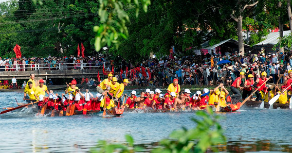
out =
[[[249,50],[251,47],[247,44],[243,44],[244,45],[244,50]],[[213,46],[209,46],[206,48],[201,49],[201,51],[204,52],[204,54],[206,53],[210,53],[213,51],[221,51],[221,50],[228,50],[230,53],[234,52],[234,51],[238,51],[238,41],[235,39],[227,39],[227,40],[223,40],[221,42],[219,42],[218,44],[215,44]],[[222,51],[222,52],[226,52],[226,51]]]

